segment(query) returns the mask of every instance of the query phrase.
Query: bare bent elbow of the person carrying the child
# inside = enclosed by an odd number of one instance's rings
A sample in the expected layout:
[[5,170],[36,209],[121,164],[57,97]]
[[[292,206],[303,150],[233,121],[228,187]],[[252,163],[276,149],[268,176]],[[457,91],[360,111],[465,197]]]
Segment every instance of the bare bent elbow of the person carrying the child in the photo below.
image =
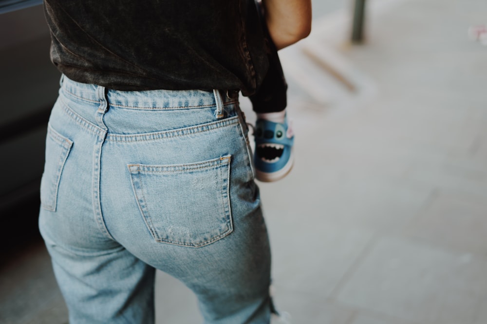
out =
[[280,50],[311,32],[311,0],[262,0],[269,34]]

